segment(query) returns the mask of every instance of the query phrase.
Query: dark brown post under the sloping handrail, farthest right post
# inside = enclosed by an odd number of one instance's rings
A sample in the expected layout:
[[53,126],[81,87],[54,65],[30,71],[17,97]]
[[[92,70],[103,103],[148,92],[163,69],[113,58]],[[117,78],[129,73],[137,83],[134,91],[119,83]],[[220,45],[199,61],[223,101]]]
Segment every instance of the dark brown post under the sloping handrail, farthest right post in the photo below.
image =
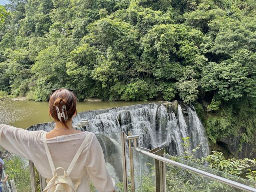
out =
[[[158,156],[162,156],[164,154],[164,149],[157,150],[153,152]],[[163,182],[163,167],[162,162],[160,160],[155,159],[155,168],[156,168],[156,192],[164,192],[164,182]]]

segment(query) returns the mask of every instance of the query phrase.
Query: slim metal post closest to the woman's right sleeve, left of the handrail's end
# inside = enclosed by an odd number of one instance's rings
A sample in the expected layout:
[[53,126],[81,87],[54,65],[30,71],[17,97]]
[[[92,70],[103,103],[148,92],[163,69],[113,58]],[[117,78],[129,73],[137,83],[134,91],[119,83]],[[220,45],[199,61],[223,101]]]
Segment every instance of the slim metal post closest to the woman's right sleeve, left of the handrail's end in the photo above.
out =
[[122,165],[123,165],[123,181],[124,181],[124,192],[128,192],[128,177],[127,177],[127,159],[125,149],[125,137],[124,132],[121,132],[121,143],[122,143]]

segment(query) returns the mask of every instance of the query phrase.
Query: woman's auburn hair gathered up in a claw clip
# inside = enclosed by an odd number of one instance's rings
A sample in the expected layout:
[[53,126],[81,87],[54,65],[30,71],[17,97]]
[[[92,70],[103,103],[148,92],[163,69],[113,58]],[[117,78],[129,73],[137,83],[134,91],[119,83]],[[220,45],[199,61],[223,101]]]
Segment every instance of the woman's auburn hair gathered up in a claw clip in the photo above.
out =
[[[62,113],[62,106],[66,105],[68,120],[72,118],[72,116],[76,113],[76,96],[73,92],[70,92],[67,89],[59,89],[56,90],[51,96],[49,101],[49,112],[50,115],[56,120],[60,121],[58,118],[58,113],[56,107],[59,108]],[[67,120],[67,121],[68,121]],[[68,128],[64,117],[61,117],[61,123]]]

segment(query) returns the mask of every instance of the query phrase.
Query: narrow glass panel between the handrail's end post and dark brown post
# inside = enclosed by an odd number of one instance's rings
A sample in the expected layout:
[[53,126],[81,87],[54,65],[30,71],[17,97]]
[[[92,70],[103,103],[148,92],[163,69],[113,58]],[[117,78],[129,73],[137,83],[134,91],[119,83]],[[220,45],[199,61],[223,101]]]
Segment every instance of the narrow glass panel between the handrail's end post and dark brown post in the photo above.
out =
[[[141,148],[142,150],[146,150]],[[134,161],[134,182],[136,192],[155,192],[155,159],[138,153],[132,148]]]

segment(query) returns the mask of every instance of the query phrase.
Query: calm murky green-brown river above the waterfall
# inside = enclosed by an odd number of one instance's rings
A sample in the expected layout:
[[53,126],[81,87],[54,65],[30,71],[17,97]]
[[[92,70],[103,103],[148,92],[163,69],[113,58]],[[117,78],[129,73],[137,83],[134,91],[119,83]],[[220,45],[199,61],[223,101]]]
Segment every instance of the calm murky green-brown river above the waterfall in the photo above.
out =
[[[112,108],[118,106],[135,105],[156,101],[137,102],[78,102],[77,112]],[[27,128],[34,124],[52,121],[48,114],[48,102],[32,101],[1,101],[0,124],[8,124],[19,128]]]

